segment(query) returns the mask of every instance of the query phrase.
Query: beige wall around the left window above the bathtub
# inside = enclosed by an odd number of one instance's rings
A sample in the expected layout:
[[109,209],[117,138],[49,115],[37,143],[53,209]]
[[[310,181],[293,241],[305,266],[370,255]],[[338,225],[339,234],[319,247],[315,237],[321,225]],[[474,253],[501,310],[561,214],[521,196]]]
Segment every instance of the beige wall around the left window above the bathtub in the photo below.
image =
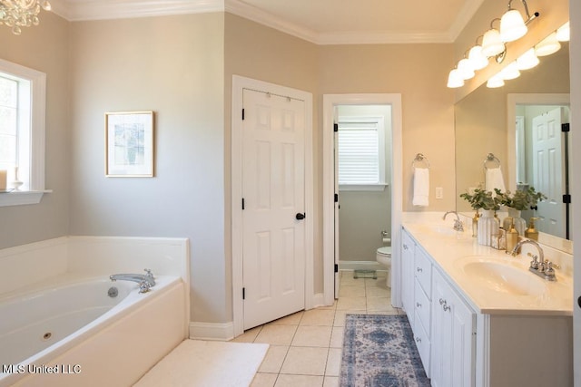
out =
[[19,36],[0,25],[0,58],[46,73],[45,187],[53,193],[37,205],[0,207],[0,248],[68,233],[70,25],[52,13],[40,17],[40,25]]

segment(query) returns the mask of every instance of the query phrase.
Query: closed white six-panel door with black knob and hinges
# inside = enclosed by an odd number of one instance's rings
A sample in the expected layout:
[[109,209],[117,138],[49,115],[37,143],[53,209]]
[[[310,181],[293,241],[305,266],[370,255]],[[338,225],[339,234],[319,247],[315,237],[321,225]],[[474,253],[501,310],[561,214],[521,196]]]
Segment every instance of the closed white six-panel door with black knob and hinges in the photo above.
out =
[[305,307],[303,101],[243,91],[244,329]]

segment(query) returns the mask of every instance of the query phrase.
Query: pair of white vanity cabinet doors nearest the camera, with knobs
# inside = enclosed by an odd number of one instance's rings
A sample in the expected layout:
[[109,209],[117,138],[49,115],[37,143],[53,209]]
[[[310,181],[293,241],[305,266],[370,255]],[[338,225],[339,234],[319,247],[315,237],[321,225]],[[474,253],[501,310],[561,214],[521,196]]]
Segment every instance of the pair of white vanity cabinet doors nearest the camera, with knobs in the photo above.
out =
[[432,280],[432,385],[473,386],[475,314],[438,270]]

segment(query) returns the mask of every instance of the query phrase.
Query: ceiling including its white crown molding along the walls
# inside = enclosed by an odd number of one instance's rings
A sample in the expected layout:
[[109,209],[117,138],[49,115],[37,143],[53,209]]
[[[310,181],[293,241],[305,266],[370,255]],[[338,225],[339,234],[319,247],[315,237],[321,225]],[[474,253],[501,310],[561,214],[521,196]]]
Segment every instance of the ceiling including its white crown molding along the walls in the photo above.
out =
[[51,0],[70,21],[229,12],[315,44],[451,43],[484,0]]

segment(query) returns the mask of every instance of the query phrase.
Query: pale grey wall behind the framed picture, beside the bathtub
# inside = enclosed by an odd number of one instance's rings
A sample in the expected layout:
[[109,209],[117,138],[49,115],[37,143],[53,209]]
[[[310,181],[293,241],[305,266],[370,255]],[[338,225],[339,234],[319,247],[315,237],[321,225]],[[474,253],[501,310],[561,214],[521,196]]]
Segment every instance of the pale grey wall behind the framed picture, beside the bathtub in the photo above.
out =
[[[227,322],[224,15],[72,24],[72,235],[188,237],[192,321]],[[155,178],[105,178],[103,114],[156,112]]]

